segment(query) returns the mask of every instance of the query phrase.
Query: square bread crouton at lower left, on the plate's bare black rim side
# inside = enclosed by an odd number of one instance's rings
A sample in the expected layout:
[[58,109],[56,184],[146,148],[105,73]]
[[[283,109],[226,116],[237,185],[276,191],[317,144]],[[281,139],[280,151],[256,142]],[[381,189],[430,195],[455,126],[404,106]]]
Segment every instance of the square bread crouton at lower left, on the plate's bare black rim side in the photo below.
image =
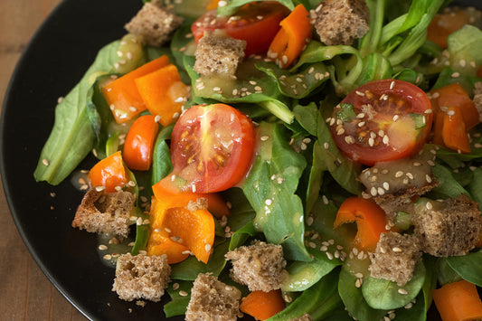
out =
[[118,257],[112,291],[126,301],[142,298],[158,302],[164,295],[170,274],[166,255],[123,254]]

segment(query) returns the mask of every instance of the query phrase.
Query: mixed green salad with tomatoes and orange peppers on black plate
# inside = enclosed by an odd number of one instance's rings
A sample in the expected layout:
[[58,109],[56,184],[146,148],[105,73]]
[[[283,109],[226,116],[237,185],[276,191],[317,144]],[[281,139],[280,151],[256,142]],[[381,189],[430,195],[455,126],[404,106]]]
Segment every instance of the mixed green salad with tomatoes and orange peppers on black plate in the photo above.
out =
[[[480,13],[354,3],[346,24],[330,1],[146,4],[173,30],[132,27],[59,102],[35,179],[92,153],[81,189],[135,195],[104,260],[165,254],[165,316],[207,273],[258,319],[482,317]],[[282,248],[272,291],[225,259],[259,241]]]

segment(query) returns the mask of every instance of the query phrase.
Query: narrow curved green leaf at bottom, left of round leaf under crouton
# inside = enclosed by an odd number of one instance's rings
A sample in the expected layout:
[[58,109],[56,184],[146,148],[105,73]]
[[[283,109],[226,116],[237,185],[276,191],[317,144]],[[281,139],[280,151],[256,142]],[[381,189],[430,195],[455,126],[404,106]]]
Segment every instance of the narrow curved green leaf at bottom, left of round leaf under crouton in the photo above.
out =
[[338,281],[338,293],[345,304],[346,310],[358,320],[380,320],[386,314],[386,310],[378,310],[370,307],[364,298],[362,288],[356,288],[356,277],[345,268],[340,271]]

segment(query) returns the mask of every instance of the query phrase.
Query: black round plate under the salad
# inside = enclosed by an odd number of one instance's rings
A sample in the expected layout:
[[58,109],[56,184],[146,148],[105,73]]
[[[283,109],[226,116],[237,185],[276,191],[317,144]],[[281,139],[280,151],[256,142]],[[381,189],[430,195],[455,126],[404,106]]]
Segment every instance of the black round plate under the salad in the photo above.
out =
[[[457,4],[480,6],[477,0]],[[36,183],[33,170],[58,97],[80,80],[104,44],[125,33],[123,25],[141,5],[140,0],[62,1],[16,66],[0,123],[0,170],[17,229],[54,286],[95,320],[162,319],[165,301],[137,307],[119,300],[111,291],[114,269],[99,259],[96,235],[71,228],[82,193],[69,180],[58,186]]]

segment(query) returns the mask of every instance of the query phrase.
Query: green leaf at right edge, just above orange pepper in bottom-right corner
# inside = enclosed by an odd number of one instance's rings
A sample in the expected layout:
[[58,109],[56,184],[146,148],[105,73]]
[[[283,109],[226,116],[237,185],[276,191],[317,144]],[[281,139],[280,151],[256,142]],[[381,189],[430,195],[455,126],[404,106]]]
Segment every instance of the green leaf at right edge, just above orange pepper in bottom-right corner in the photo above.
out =
[[462,279],[482,287],[482,250],[446,260]]

